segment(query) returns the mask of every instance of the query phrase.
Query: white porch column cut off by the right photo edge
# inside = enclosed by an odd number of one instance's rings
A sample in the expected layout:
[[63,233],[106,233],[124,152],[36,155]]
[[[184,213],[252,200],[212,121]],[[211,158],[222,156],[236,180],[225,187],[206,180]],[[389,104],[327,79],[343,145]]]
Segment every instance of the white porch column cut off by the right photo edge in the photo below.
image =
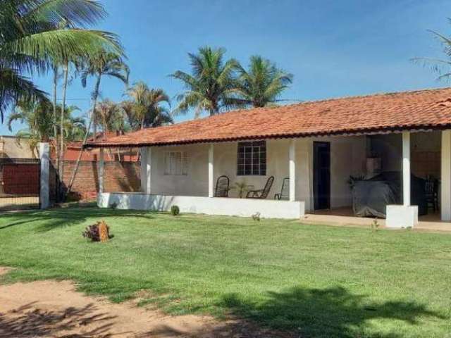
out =
[[451,130],[442,132],[440,209],[442,220],[451,220]]

